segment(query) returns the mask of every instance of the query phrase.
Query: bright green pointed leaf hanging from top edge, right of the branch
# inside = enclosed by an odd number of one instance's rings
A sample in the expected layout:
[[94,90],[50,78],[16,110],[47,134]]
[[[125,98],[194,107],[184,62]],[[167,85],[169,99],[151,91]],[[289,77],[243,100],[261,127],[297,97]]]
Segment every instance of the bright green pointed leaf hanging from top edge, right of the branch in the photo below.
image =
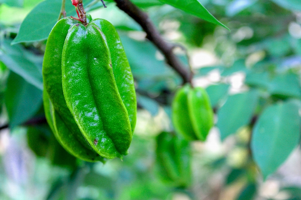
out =
[[[227,28],[224,24],[220,23],[198,0],[160,0],[163,3],[172,5],[175,8],[179,8],[187,13],[202,18],[208,22],[215,23]],[[229,28],[227,28],[230,30]]]

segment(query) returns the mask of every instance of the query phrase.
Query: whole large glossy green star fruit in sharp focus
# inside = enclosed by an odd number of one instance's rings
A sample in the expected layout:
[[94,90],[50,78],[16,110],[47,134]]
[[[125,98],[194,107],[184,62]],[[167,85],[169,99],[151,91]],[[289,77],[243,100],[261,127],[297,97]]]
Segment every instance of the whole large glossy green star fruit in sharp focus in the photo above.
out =
[[[60,143],[73,139],[73,146],[62,144],[67,151],[104,162],[127,154],[136,125],[136,95],[114,26],[87,19],[90,23],[83,26],[63,18],[52,29],[43,61],[44,96],[50,104],[44,104],[53,106],[47,121]],[[77,146],[87,151],[85,156]]]

